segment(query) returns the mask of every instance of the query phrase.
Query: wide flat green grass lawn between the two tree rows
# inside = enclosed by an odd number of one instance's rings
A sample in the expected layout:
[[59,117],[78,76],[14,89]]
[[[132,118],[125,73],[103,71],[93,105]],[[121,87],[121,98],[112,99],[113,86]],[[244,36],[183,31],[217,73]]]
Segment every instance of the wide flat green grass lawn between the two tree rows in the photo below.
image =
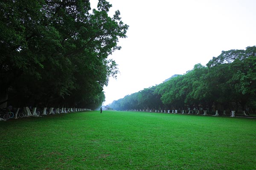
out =
[[0,122],[1,170],[253,170],[256,119],[99,111]]

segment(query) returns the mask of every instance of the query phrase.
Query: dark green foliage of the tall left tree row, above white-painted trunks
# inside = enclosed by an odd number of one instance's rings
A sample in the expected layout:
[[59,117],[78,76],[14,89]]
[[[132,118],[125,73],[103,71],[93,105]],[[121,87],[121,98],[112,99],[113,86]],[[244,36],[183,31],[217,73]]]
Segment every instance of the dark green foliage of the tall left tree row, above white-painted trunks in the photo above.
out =
[[0,2],[0,105],[95,109],[128,26],[99,0]]

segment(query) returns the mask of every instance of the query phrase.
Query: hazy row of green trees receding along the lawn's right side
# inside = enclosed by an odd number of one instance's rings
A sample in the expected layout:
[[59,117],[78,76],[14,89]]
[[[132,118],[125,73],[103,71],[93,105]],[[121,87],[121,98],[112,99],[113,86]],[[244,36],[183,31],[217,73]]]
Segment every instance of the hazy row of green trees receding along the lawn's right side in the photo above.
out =
[[[139,82],[138,82],[139,83]],[[206,66],[114,101],[116,110],[226,114],[256,110],[256,46],[222,51]]]

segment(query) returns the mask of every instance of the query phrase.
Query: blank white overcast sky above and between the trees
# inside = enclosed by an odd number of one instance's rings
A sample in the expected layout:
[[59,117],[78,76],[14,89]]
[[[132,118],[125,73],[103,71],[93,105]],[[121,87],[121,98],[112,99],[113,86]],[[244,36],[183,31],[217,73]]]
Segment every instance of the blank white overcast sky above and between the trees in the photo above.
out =
[[109,15],[119,10],[130,27],[122,49],[109,56],[120,74],[104,88],[103,105],[206,65],[223,50],[256,45],[256,0],[107,1]]

